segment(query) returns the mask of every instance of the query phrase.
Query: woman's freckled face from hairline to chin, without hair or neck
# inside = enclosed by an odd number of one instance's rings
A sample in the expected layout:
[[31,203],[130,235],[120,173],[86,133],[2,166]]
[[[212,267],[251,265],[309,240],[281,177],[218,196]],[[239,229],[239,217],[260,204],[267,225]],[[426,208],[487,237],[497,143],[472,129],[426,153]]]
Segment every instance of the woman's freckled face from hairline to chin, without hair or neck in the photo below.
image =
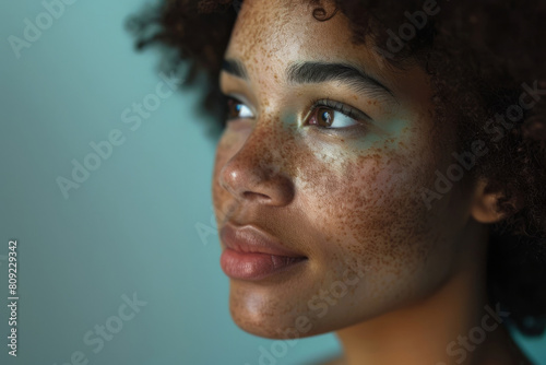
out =
[[266,275],[261,259],[222,258],[234,320],[268,338],[415,303],[456,273],[474,239],[460,184],[431,205],[423,198],[456,152],[453,126],[435,122],[428,75],[354,45],[341,11],[323,22],[312,11],[245,0],[219,80],[237,102],[217,144],[218,229],[252,225],[306,257]]

